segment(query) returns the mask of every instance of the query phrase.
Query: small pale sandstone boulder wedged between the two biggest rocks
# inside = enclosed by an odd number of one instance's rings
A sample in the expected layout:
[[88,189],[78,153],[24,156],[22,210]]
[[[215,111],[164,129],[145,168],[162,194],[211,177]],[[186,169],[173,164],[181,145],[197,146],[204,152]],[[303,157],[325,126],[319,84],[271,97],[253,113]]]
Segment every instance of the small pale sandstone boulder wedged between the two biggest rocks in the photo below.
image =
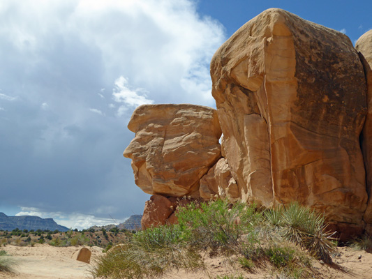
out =
[[234,201],[240,197],[237,182],[232,177],[228,160],[221,158],[208,173],[200,179],[200,197],[205,200],[228,197]]

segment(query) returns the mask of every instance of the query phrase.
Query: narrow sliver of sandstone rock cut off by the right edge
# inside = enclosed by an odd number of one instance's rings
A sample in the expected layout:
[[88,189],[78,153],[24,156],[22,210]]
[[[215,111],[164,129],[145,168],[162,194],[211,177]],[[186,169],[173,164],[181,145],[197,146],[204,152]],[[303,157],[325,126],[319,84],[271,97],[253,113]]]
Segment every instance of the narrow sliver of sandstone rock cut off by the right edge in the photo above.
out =
[[364,213],[364,220],[368,223],[366,227],[367,232],[372,234],[372,30],[364,33],[364,35],[357,40],[355,48],[359,52],[360,59],[362,60],[368,86],[368,113],[362,133],[362,151],[364,165],[366,167],[367,192],[369,194],[369,203],[366,213]]

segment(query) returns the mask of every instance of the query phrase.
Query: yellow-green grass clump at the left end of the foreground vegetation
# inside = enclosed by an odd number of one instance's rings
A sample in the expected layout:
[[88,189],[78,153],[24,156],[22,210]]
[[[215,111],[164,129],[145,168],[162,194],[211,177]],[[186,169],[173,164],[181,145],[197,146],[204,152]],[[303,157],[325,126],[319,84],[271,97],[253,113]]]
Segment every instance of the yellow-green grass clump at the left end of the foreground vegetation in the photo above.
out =
[[177,226],[146,229],[114,246],[91,271],[94,278],[156,278],[170,269],[203,269],[200,255],[185,248]]

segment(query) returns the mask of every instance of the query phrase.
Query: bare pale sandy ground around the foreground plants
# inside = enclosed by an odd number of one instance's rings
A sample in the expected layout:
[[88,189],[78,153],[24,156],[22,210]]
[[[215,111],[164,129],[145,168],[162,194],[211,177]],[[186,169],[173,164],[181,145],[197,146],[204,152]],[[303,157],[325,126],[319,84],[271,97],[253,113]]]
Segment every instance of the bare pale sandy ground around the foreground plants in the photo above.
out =
[[[102,255],[102,248],[88,247],[91,252],[91,262]],[[17,261],[15,273],[1,273],[0,278],[17,279],[87,279],[92,278],[89,269],[91,264],[85,264],[71,259],[71,255],[79,247],[53,247],[49,245],[36,244],[34,247],[6,246],[6,250],[13,259]],[[338,248],[338,254],[332,266],[313,262],[313,278],[316,279],[372,279],[372,254],[352,248]],[[204,279],[216,278],[224,275],[244,275],[248,279],[276,278],[270,271],[255,269],[252,273],[246,273],[243,269],[232,269],[224,264],[220,258],[210,259],[205,256],[208,271],[206,273],[186,273],[174,271],[163,278],[174,279]],[[208,276],[209,275],[209,276]]]

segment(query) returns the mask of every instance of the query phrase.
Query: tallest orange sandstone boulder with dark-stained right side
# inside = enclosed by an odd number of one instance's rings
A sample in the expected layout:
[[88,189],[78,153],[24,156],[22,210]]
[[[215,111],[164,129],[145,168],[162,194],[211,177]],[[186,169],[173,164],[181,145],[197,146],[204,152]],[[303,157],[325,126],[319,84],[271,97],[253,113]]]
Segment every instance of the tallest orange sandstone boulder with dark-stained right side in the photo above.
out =
[[225,158],[244,200],[297,200],[336,228],[364,227],[367,89],[347,36],[265,10],[214,54],[211,78]]

